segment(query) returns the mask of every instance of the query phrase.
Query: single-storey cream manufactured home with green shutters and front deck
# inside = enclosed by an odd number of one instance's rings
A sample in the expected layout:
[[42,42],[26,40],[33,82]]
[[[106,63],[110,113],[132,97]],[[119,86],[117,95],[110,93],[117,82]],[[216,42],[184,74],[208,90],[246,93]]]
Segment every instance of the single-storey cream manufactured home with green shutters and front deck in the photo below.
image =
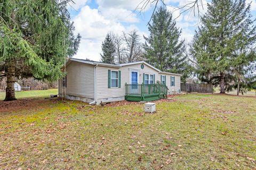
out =
[[162,72],[146,62],[107,64],[70,58],[59,96],[86,103],[151,101],[180,93],[180,74]]

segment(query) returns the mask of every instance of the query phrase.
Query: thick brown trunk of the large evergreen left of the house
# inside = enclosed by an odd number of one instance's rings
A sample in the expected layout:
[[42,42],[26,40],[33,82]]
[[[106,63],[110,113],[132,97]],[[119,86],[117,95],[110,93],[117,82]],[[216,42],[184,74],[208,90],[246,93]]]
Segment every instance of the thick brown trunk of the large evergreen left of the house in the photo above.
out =
[[5,99],[4,101],[11,101],[11,100],[17,100],[15,98],[15,89],[14,89],[14,83],[15,83],[15,62],[10,61],[8,65],[8,70],[6,73],[6,93],[5,93]]

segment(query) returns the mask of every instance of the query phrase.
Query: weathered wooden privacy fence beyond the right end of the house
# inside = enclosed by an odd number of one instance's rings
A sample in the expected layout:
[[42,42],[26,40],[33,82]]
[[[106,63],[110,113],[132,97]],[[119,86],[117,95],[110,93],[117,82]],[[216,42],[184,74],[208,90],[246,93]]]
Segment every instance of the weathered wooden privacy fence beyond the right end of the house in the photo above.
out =
[[180,89],[187,92],[213,92],[212,84],[181,83]]

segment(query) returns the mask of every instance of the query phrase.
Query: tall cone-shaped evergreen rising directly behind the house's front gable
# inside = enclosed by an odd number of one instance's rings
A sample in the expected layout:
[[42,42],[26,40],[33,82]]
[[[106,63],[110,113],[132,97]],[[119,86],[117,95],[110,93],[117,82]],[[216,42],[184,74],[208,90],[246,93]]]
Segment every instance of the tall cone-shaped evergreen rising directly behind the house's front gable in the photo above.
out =
[[159,70],[183,73],[188,64],[182,55],[185,50],[184,40],[180,41],[181,30],[172,19],[171,12],[160,7],[149,23],[149,37],[144,37],[145,58]]

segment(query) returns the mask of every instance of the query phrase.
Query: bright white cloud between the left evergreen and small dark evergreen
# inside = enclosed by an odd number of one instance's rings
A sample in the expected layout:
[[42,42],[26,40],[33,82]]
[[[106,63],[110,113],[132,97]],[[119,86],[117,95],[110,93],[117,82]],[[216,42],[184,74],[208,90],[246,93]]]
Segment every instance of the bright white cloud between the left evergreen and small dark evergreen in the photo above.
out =
[[97,9],[84,6],[74,18],[76,32],[81,33],[82,40],[75,57],[90,58],[99,61],[101,43],[109,31],[120,33],[125,27],[114,20],[106,19]]

